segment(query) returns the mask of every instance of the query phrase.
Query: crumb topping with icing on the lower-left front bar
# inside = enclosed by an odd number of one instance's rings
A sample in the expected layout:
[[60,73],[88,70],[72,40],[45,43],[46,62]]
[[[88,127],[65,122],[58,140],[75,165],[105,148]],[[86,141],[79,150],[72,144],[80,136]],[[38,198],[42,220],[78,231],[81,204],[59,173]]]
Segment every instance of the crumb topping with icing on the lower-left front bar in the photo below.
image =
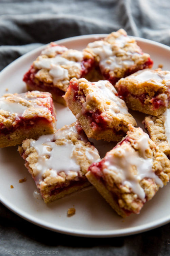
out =
[[37,141],[26,140],[22,148],[41,189],[56,182],[78,180],[92,162],[100,159],[96,148],[87,142],[85,135],[78,133],[75,124],[41,136]]

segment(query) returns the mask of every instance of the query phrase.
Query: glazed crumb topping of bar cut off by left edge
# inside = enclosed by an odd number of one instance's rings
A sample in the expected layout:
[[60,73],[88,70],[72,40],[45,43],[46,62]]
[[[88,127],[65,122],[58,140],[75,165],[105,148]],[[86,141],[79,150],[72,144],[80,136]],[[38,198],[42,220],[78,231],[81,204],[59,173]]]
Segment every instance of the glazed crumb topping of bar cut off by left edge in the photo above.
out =
[[20,119],[44,117],[53,120],[51,110],[51,94],[31,91],[23,94],[5,94],[0,98],[1,127],[15,126]]

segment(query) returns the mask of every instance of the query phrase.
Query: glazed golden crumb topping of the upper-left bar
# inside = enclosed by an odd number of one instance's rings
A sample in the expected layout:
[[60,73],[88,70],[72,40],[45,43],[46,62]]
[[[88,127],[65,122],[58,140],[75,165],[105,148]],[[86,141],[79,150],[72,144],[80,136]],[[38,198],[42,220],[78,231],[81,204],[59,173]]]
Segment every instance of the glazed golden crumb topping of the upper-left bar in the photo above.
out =
[[72,77],[81,77],[82,61],[92,58],[87,52],[67,49],[64,46],[51,43],[33,62],[33,68],[38,70],[36,79],[47,84],[53,83],[66,91]]

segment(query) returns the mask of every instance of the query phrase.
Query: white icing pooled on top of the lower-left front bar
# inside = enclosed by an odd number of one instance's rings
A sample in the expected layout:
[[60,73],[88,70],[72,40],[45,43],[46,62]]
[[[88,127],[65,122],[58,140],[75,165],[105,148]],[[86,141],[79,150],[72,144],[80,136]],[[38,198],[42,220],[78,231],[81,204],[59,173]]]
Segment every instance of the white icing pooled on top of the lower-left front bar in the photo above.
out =
[[[70,138],[74,134],[78,134],[75,126],[67,126],[65,129],[58,130],[54,134],[43,135],[37,141],[30,142],[30,146],[34,147],[38,154],[35,164],[36,183],[40,184],[42,182],[42,176],[47,170],[50,171],[50,177],[56,177],[62,171],[66,175],[73,175],[73,177],[75,176],[75,172],[80,172],[80,165],[77,163],[77,154],[78,156],[83,155],[81,152],[83,145],[81,143],[76,143],[75,145],[72,143]],[[83,136],[79,135],[79,137],[83,141],[87,140]],[[63,144],[55,144],[56,139],[64,140],[62,142]],[[95,148],[86,148],[85,155],[91,163],[99,159],[98,151]]]

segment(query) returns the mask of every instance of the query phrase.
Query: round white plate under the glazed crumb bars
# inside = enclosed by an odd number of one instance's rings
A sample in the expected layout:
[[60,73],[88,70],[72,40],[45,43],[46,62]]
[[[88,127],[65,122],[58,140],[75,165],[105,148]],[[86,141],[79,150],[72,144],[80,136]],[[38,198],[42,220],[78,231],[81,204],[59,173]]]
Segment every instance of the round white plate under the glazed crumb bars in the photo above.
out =
[[[57,43],[68,48],[82,49],[88,42],[106,35],[85,35],[60,40]],[[151,55],[154,68],[164,64],[163,69],[170,70],[170,47],[150,40],[136,38],[138,44]],[[43,46],[44,47],[44,46]],[[0,95],[6,93],[22,93],[26,91],[22,82],[23,74],[43,49],[40,47],[18,58],[0,73]],[[75,117],[62,105],[56,104],[57,128],[74,122]],[[144,114],[133,112],[139,123]],[[112,143],[96,142],[99,151],[111,149]],[[55,202],[45,204],[33,197],[36,189],[24,161],[19,156],[16,147],[0,149],[1,179],[0,201],[11,211],[28,221],[53,231],[85,237],[114,237],[134,234],[170,221],[170,185],[160,189],[155,197],[147,202],[139,215],[132,214],[126,219],[119,217],[105,200],[92,188],[73,194]],[[27,177],[27,182],[18,183],[19,179]],[[14,188],[11,189],[10,185]],[[67,210],[75,207],[76,213],[67,217]]]

